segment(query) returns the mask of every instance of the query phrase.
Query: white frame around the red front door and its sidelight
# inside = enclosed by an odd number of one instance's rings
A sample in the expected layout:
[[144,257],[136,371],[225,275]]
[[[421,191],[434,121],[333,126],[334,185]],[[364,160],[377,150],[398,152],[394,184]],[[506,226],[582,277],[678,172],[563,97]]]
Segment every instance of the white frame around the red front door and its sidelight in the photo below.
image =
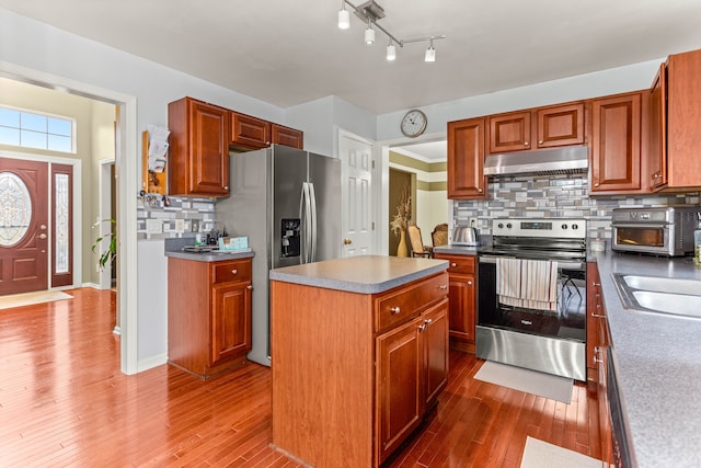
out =
[[[72,287],[80,286],[80,278],[82,277],[82,229],[81,229],[81,219],[82,219],[82,161],[79,159],[70,159],[70,158],[61,158],[58,156],[48,156],[48,155],[34,155],[31,152],[15,152],[15,151],[5,151],[0,150],[0,156],[3,158],[10,159],[22,159],[25,161],[35,161],[35,162],[45,162],[47,164],[65,164],[73,168],[73,206],[71,209],[73,210],[73,284],[70,286],[60,286],[60,287],[51,287],[51,258],[54,255],[54,244],[53,238],[50,239],[48,246],[48,282],[47,289],[70,289]],[[51,226],[51,216],[53,208],[50,207],[54,203],[54,193],[50,190],[50,176],[51,171],[48,171],[48,203],[49,203],[49,226]]]

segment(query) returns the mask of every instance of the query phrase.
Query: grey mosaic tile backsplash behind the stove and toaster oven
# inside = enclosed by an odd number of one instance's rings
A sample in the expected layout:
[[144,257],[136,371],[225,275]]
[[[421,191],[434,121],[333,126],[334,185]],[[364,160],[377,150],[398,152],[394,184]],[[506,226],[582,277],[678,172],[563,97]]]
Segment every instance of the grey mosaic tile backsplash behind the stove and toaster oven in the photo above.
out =
[[586,175],[514,176],[490,180],[487,199],[456,201],[453,225],[478,218],[480,233],[492,233],[494,218],[571,217],[588,220],[588,237],[611,237],[611,210],[700,204],[699,193],[588,196]]

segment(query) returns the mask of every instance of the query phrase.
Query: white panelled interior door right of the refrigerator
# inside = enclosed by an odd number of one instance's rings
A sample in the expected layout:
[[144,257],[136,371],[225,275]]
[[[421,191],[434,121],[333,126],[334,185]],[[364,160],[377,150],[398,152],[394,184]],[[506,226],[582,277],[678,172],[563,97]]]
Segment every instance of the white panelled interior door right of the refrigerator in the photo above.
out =
[[372,173],[372,142],[350,133],[338,132],[341,196],[343,199],[342,256],[376,252]]

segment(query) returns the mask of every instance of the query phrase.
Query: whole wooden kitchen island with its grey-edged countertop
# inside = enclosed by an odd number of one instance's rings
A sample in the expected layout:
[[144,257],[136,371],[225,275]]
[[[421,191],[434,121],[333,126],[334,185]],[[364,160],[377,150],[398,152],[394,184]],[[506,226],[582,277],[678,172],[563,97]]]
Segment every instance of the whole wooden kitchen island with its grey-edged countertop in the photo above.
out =
[[448,375],[448,263],[364,255],[271,271],[273,444],[377,467]]

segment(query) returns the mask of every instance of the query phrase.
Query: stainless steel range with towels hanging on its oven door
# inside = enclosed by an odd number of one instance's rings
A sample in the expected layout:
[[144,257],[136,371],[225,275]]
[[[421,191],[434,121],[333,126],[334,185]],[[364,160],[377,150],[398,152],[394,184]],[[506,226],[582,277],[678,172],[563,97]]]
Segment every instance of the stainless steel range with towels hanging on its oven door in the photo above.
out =
[[476,355],[586,380],[586,220],[494,219],[478,254]]

